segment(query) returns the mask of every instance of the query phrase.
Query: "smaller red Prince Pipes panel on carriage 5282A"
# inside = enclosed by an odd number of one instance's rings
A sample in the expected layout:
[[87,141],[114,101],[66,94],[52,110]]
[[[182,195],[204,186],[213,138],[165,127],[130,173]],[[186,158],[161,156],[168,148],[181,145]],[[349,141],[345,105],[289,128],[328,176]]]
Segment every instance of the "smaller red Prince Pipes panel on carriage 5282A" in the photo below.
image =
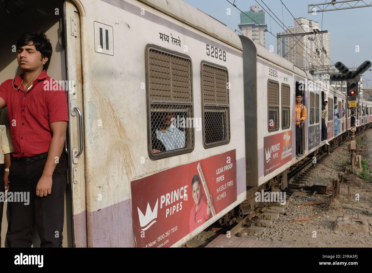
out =
[[292,159],[291,134],[292,131],[286,131],[263,138],[264,175],[268,175]]

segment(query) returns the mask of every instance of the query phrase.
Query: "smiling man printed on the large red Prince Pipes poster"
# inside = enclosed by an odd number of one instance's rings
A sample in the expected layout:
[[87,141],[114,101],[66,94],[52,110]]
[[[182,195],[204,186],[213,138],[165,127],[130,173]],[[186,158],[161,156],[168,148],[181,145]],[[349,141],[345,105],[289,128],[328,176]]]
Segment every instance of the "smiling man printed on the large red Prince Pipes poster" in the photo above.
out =
[[209,202],[207,205],[204,196],[200,194],[200,179],[197,174],[192,178],[191,188],[194,204],[190,211],[190,232],[209,219],[212,206],[212,195],[209,196]]

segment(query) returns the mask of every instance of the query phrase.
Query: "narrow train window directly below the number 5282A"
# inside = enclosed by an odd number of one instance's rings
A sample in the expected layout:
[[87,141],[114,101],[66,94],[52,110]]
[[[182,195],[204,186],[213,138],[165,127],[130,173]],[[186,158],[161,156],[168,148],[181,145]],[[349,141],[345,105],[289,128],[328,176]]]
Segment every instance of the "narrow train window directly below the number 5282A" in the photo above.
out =
[[279,83],[267,82],[268,129],[269,132],[279,130]]

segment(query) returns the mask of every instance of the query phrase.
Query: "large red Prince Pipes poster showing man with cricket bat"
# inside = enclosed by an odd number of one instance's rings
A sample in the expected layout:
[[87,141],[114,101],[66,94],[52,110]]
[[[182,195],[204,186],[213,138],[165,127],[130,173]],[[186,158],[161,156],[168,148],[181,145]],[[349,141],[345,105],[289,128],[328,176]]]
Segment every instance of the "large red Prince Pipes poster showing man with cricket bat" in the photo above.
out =
[[132,181],[135,246],[170,247],[234,203],[235,155],[231,150]]

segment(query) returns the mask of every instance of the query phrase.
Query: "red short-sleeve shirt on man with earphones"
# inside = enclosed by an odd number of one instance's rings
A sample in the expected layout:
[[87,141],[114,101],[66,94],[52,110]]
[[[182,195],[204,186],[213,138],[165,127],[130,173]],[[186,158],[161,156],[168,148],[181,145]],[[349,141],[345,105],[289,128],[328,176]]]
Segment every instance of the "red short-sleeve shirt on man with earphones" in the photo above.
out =
[[0,97],[8,107],[14,157],[29,157],[47,153],[52,140],[50,123],[68,121],[67,97],[58,82],[45,70],[33,80],[31,90],[23,85],[16,90],[21,76],[0,85]]

